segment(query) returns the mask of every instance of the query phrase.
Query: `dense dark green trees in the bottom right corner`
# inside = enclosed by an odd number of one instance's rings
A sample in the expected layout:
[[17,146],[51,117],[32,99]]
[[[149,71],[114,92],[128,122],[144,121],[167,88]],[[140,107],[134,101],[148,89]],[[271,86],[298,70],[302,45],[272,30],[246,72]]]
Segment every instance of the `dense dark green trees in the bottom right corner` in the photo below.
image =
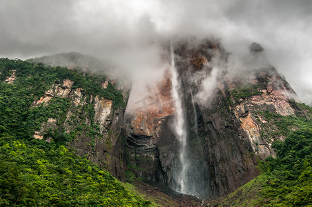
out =
[[268,179],[264,197],[274,205],[312,204],[312,128],[291,132],[273,147],[277,158],[268,157],[263,167]]

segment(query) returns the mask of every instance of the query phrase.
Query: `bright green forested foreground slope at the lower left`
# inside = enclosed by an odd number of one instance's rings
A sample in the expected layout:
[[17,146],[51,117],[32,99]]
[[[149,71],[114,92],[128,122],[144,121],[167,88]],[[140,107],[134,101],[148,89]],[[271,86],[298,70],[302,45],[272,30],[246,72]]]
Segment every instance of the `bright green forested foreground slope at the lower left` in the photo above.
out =
[[0,206],[146,206],[108,172],[64,146],[0,138]]

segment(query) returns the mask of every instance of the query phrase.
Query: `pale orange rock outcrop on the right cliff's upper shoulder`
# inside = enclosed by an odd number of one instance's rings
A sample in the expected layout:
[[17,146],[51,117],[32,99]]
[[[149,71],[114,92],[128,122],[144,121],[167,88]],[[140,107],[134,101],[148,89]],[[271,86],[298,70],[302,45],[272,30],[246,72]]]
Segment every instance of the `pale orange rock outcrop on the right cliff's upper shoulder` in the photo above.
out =
[[[248,77],[245,81],[253,84],[259,93],[245,99],[236,101],[233,99],[235,101],[233,109],[235,116],[240,120],[242,128],[248,135],[253,151],[261,159],[265,159],[268,156],[275,156],[275,152],[271,148],[274,140],[261,136],[262,124],[266,121],[261,115],[257,115],[257,112],[269,110],[283,116],[295,115],[295,108],[291,106],[290,101],[297,97],[275,68],[251,72]],[[231,86],[229,87],[231,91],[244,87],[242,82],[237,82],[237,78],[235,82],[233,83],[233,78],[227,81],[228,86]]]

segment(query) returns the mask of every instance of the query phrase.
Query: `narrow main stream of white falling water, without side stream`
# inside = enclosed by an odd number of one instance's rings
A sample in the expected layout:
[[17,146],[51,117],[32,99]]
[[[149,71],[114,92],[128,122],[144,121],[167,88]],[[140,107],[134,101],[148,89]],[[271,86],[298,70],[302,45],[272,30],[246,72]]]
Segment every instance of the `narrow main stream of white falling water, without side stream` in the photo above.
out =
[[172,74],[172,90],[173,90],[173,100],[175,101],[175,135],[177,136],[177,140],[179,141],[179,161],[181,162],[181,168],[179,168],[180,172],[177,174],[177,186],[175,186],[175,190],[189,194],[187,192],[188,186],[188,177],[187,171],[189,167],[189,162],[186,157],[186,123],[185,123],[185,115],[182,108],[182,99],[179,95],[181,83],[178,79],[177,68],[175,67],[175,54],[173,52],[173,44],[170,45],[170,55],[171,55],[171,74]]

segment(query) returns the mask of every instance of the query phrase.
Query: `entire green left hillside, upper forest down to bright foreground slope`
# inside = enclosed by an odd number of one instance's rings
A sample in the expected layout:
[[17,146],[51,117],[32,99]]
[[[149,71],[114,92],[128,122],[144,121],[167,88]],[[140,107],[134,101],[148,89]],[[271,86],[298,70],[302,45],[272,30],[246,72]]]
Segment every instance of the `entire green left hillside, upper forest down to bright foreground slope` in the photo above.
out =
[[[108,172],[66,148],[79,134],[87,134],[94,142],[101,135],[90,104],[80,105],[75,128],[66,132],[68,109],[78,106],[57,93],[43,100],[52,87],[68,89],[57,85],[67,79],[72,80],[72,88],[81,88],[86,96],[103,97],[115,108],[125,106],[121,92],[112,84],[101,86],[105,77],[0,59],[0,206],[149,205]],[[53,124],[40,135],[44,123],[51,119]]]

